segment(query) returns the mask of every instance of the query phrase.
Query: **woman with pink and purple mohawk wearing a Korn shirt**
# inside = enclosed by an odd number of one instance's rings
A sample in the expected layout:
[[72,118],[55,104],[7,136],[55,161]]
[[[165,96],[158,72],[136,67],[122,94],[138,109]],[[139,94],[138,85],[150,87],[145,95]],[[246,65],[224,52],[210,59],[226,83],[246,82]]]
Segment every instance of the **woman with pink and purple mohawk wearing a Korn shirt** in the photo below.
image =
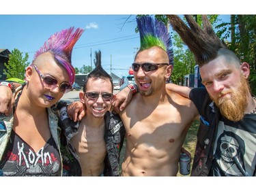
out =
[[72,49],[83,31],[70,27],[55,33],[27,67],[12,114],[0,117],[3,175],[62,175],[58,118],[51,107],[72,88]]

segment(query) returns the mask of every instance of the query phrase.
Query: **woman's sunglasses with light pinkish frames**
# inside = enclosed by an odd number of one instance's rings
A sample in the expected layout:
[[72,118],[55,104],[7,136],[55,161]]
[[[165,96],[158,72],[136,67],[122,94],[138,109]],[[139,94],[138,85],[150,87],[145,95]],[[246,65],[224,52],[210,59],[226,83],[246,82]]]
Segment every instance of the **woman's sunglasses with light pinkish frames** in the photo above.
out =
[[52,90],[56,86],[59,86],[59,92],[61,92],[63,94],[72,90],[72,86],[69,83],[62,82],[61,84],[58,85],[58,81],[56,79],[54,79],[53,77],[48,76],[48,75],[42,75],[42,73],[39,71],[38,67],[36,67],[35,65],[32,65],[32,66],[35,68],[35,70],[38,72],[38,74],[42,78],[42,82],[43,82],[45,88]]

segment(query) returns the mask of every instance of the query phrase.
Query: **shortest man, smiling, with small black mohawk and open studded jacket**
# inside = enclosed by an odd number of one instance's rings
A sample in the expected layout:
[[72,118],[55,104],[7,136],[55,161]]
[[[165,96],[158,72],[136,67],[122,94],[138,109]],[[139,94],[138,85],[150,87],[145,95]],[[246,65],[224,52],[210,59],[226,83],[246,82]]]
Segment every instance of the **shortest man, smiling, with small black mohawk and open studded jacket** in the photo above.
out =
[[85,78],[83,92],[79,93],[85,113],[81,122],[72,122],[63,103],[58,105],[66,148],[72,158],[66,169],[69,175],[76,176],[118,176],[125,129],[119,116],[109,111],[114,97],[113,81],[102,69],[101,52],[95,55],[96,67]]

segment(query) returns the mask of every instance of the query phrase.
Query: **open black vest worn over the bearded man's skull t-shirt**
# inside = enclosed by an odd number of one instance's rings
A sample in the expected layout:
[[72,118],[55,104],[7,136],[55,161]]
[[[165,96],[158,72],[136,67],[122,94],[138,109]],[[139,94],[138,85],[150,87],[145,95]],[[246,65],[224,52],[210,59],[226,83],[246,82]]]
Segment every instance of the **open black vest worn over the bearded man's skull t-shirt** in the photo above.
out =
[[191,176],[208,176],[212,167],[214,135],[220,113],[205,88],[193,88],[189,97],[201,115]]

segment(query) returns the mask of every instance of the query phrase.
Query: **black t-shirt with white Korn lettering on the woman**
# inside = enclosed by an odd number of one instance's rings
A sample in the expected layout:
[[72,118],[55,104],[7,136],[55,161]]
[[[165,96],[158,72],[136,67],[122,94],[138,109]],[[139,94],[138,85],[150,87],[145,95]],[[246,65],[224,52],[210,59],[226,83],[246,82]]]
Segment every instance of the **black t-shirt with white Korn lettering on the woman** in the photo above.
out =
[[51,137],[34,152],[14,131],[0,161],[4,176],[57,176],[61,168],[57,145]]

